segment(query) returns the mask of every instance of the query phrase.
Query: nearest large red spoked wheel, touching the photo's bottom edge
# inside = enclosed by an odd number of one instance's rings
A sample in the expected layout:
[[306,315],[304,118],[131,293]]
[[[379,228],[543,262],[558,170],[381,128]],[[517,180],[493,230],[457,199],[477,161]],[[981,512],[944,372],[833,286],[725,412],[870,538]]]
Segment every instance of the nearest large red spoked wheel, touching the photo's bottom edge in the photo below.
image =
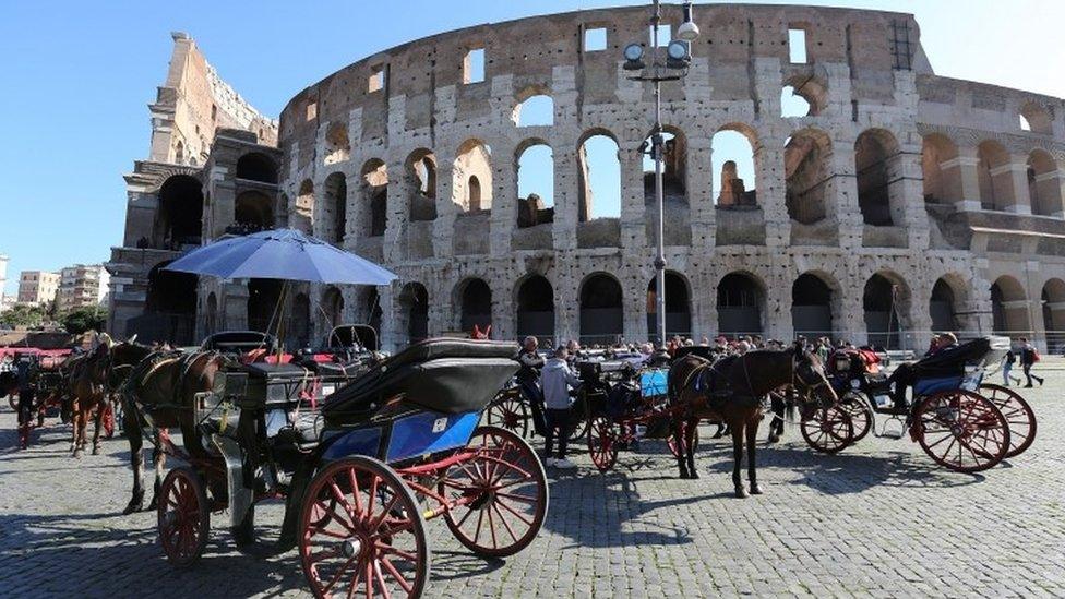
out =
[[414,493],[371,457],[334,462],[311,480],[299,535],[315,597],[419,597],[429,579],[426,520]]

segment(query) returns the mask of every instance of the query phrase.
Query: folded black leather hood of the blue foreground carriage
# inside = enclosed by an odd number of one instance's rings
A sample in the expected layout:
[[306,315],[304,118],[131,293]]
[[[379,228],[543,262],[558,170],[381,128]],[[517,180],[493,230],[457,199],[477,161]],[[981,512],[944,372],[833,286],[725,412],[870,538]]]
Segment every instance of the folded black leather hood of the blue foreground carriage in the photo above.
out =
[[396,395],[421,407],[462,414],[482,409],[518,370],[518,347],[471,339],[427,339],[383,360],[325,398],[333,422],[367,417],[371,405]]

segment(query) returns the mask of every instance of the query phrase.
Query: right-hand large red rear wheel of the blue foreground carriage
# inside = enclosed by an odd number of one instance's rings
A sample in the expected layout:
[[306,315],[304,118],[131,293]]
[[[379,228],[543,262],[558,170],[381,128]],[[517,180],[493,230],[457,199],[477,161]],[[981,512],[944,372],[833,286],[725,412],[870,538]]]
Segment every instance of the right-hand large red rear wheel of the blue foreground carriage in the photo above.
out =
[[462,452],[474,456],[447,470],[438,492],[448,502],[444,522],[458,542],[486,558],[522,551],[548,513],[548,478],[532,446],[513,431],[478,427]]

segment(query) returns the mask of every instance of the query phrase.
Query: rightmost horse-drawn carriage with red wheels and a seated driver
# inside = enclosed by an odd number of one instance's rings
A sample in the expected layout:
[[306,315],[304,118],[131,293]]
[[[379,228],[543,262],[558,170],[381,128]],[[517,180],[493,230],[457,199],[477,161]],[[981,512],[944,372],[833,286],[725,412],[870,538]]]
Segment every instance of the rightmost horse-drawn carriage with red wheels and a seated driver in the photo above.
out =
[[[840,350],[828,364],[840,396],[804,419],[802,435],[814,448],[839,452],[872,433],[913,441],[937,464],[976,472],[1019,455],[1036,435],[1031,407],[1006,387],[984,383],[1009,349],[1003,337],[983,337],[907,367],[913,373],[906,406],[893,402],[888,378],[871,371],[859,352]],[[885,418],[877,428],[876,417]]]

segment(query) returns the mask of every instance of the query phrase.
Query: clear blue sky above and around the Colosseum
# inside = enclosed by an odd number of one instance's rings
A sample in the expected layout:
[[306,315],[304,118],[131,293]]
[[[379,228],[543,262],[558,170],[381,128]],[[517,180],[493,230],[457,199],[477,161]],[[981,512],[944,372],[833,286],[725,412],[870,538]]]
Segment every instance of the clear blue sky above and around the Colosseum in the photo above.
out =
[[[121,241],[122,175],[147,153],[146,105],[166,75],[171,31],[191,34],[226,81],[276,116],[308,84],[414,38],[532,14],[646,3],[2,0],[0,254],[11,259],[7,291],[14,291],[20,271],[104,261]],[[1065,96],[1065,2],[803,3],[913,12],[938,74]]]

